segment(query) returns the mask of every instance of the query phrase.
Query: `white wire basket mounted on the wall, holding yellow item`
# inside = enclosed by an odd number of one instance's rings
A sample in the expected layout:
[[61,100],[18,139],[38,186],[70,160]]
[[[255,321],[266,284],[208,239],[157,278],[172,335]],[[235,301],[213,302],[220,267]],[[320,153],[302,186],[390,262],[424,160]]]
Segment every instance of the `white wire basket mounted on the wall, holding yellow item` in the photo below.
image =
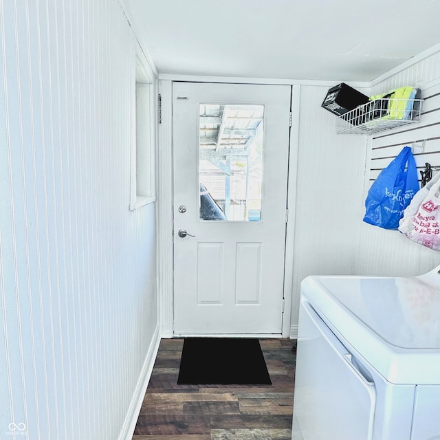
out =
[[371,134],[419,122],[421,99],[380,98],[340,115],[338,134]]

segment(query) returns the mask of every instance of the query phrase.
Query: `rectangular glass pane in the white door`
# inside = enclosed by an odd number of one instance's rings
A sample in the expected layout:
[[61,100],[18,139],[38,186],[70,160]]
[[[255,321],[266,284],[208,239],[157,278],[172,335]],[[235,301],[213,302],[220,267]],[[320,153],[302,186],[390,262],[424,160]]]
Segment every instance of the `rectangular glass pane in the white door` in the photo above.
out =
[[200,219],[261,221],[263,105],[200,104]]

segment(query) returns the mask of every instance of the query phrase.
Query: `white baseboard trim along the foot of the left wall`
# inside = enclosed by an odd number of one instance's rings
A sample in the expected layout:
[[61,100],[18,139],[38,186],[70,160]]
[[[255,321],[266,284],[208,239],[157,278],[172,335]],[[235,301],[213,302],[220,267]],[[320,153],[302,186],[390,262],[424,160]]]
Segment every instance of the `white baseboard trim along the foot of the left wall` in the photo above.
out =
[[159,351],[159,343],[159,327],[156,327],[150,347],[148,348],[148,351],[146,353],[144,365],[142,366],[142,371],[140,373],[139,379],[137,380],[135,392],[133,393],[129,410],[126,413],[124,424],[122,425],[122,429],[120,430],[118,440],[131,440],[133,438],[133,432],[135,432],[137,417],[139,417],[139,412],[142,406],[142,402],[144,401],[146,388],[148,386],[148,382],[150,382],[151,373],[153,372],[153,366],[157,356],[157,351]]

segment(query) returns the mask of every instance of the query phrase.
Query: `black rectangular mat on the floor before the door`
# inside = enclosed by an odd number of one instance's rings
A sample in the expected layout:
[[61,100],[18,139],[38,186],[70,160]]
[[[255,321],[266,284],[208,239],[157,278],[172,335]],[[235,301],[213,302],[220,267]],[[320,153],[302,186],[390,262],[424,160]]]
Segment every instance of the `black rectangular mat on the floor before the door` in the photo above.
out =
[[185,338],[179,385],[272,385],[258,339]]

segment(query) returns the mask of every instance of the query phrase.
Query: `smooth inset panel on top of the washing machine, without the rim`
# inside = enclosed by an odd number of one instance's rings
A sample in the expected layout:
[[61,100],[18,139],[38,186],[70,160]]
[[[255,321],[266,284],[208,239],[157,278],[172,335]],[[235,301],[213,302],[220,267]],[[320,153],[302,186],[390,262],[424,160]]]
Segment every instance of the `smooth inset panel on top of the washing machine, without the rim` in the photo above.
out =
[[440,349],[440,286],[418,278],[320,278],[352,314],[389,344]]

